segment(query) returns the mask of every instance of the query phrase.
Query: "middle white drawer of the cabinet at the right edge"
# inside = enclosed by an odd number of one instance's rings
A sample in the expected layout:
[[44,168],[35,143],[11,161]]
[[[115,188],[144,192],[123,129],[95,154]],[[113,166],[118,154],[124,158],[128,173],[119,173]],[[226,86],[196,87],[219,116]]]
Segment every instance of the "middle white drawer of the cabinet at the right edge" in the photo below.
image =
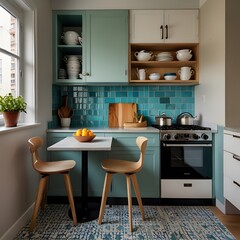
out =
[[240,183],[240,157],[224,151],[224,175]]

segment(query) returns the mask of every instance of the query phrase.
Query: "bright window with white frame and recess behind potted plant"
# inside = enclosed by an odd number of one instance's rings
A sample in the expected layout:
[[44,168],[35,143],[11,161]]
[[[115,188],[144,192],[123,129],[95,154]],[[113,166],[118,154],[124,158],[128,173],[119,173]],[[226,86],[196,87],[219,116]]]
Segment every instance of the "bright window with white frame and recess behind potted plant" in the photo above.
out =
[[[19,122],[36,122],[35,10],[25,0],[0,0],[0,95],[22,95],[27,114]],[[0,113],[0,126],[4,124]]]

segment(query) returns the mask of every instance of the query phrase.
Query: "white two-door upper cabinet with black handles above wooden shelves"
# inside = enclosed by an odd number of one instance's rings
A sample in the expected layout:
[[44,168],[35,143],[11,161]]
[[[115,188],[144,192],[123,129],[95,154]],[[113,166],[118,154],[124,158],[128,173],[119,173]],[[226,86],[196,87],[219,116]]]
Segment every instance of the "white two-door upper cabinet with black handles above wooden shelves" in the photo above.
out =
[[198,10],[131,10],[131,43],[197,43]]

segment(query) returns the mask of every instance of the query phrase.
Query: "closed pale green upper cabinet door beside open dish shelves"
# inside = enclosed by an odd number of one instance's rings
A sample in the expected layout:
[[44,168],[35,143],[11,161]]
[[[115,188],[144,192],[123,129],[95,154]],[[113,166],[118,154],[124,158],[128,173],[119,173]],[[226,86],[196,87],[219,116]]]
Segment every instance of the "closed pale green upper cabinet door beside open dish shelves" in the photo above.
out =
[[87,12],[88,83],[128,81],[128,11]]

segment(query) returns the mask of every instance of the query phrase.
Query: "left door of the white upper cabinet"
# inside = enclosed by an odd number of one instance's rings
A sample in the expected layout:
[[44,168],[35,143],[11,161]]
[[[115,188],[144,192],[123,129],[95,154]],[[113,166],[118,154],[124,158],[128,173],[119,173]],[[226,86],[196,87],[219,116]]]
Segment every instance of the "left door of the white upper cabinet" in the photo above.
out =
[[163,43],[162,10],[130,11],[130,42],[131,43]]

